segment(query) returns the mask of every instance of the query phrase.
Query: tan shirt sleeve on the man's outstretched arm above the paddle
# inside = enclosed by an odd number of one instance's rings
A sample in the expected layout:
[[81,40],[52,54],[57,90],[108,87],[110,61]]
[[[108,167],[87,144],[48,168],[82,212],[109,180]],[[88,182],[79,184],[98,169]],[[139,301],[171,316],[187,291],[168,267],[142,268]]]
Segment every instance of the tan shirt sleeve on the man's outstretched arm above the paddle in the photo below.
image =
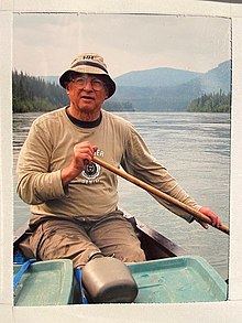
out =
[[[130,139],[127,141],[127,149],[121,165],[131,175],[189,205],[190,207],[194,207],[195,209],[199,209],[201,207],[180,187],[176,180],[169,174],[167,169],[151,154],[147,146],[134,128],[131,128]],[[194,220],[193,215],[188,214],[180,207],[175,206],[174,204],[154,194],[151,195],[160,204],[179,215],[187,222],[190,223]]]

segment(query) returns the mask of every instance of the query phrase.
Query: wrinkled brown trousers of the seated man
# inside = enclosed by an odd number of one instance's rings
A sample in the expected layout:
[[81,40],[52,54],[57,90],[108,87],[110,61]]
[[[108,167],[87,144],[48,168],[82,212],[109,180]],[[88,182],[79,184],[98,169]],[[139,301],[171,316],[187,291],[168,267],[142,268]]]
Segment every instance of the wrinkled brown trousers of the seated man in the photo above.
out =
[[72,259],[74,268],[82,268],[96,252],[124,262],[145,260],[133,226],[119,211],[98,218],[53,217],[41,223],[20,249],[28,258]]

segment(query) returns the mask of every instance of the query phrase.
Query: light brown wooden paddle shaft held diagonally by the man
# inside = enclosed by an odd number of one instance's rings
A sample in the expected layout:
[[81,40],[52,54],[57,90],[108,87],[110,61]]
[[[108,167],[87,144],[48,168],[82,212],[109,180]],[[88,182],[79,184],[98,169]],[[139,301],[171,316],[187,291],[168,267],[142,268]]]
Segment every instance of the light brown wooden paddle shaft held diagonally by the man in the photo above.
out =
[[[176,200],[175,197],[172,197],[168,194],[166,194],[166,193],[164,193],[164,192],[162,192],[162,191],[160,191],[160,190],[157,190],[157,189],[155,189],[155,187],[142,182],[141,180],[128,174],[127,172],[110,165],[109,163],[105,162],[103,160],[100,160],[97,157],[94,157],[94,162],[96,162],[97,164],[101,165],[102,168],[109,170],[110,172],[123,177],[124,180],[127,180],[127,181],[129,181],[129,182],[131,182],[131,183],[133,183],[133,184],[135,184],[135,185],[138,185],[138,186],[140,186],[142,189],[144,189],[145,191],[147,191],[147,192],[150,192],[150,193],[152,193],[152,194],[154,194],[154,195],[156,195],[158,197],[162,197],[163,200],[165,200],[165,201],[167,201],[167,202],[180,207],[182,209],[184,209],[187,213],[191,214],[198,220],[201,220],[201,222],[205,222],[205,223],[208,223],[208,224],[211,225],[212,222],[208,216],[206,216],[201,212],[190,207],[189,205]],[[220,227],[216,227],[216,228],[221,230],[221,232],[223,232],[223,233],[226,233],[226,234],[228,234],[228,235],[230,233],[229,228],[227,226],[224,226],[224,225],[221,225]]]

